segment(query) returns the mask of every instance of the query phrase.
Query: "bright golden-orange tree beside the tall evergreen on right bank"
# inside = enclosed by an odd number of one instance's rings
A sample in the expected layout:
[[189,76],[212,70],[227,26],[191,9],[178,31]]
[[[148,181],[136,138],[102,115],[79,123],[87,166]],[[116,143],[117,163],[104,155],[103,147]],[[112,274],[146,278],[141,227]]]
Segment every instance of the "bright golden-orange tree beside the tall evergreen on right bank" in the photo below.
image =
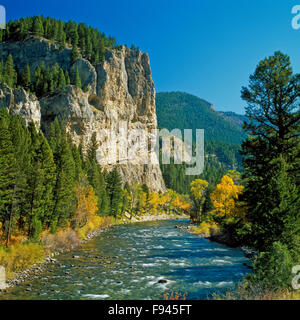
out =
[[210,199],[215,207],[214,213],[228,218],[234,214],[235,200],[242,193],[243,186],[238,186],[228,177],[223,176],[221,183],[211,193]]

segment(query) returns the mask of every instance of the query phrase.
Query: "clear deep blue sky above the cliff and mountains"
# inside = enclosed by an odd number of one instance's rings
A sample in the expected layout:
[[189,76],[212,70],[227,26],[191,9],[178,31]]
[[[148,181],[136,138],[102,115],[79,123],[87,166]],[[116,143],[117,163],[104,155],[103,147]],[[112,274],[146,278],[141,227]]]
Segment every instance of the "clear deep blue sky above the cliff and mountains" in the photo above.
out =
[[185,91],[244,112],[240,90],[276,50],[300,72],[300,0],[0,0],[7,18],[43,14],[84,22],[150,55],[157,92]]

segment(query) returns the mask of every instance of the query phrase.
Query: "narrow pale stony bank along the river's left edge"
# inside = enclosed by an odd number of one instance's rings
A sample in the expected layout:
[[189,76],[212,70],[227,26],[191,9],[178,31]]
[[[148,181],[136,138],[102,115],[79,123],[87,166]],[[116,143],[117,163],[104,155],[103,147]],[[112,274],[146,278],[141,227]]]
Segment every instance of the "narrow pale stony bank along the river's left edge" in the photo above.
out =
[[[138,223],[138,222],[147,222],[147,221],[160,221],[160,220],[176,220],[176,219],[189,219],[187,215],[167,215],[167,214],[159,214],[159,215],[143,215],[143,216],[135,216],[131,219],[123,218],[121,221],[115,222],[108,227],[101,227],[91,233],[88,236],[81,240],[77,246],[72,246],[71,248],[62,248],[58,251],[51,252],[47,255],[43,261],[37,262],[33,264],[31,267],[16,273],[11,279],[6,281],[6,284],[0,287],[0,294],[5,293],[7,289],[12,288],[14,286],[18,286],[25,281],[30,281],[36,279],[40,273],[47,271],[49,269],[49,265],[53,263],[57,263],[57,257],[60,254],[72,252],[74,249],[80,247],[82,244],[87,243],[91,239],[99,236],[101,233],[107,232],[110,227],[115,225],[122,225],[122,224],[131,224],[131,223]],[[76,256],[73,256],[76,259]],[[30,290],[28,287],[27,290]]]

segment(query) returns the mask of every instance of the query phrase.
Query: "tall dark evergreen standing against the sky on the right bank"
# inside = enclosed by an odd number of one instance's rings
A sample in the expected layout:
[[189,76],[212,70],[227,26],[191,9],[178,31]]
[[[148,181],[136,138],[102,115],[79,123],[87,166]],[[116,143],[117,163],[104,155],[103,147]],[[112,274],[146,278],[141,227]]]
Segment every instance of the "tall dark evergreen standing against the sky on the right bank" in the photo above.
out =
[[295,210],[296,187],[299,198],[299,80],[300,75],[292,73],[289,57],[276,52],[259,63],[249,87],[242,90],[249,118],[244,124],[249,137],[242,145],[243,200],[251,223],[247,241],[261,251],[274,240],[291,248],[288,239],[295,239],[291,221],[294,230],[299,230]]

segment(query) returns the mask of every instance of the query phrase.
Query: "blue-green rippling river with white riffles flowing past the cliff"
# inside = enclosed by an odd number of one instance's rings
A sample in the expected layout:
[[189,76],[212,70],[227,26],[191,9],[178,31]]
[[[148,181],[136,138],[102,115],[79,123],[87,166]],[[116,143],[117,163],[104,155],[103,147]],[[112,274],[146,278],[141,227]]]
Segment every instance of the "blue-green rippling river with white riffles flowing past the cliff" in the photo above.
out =
[[171,290],[207,299],[234,288],[249,272],[243,253],[175,228],[184,224],[114,226],[0,299],[162,299]]

